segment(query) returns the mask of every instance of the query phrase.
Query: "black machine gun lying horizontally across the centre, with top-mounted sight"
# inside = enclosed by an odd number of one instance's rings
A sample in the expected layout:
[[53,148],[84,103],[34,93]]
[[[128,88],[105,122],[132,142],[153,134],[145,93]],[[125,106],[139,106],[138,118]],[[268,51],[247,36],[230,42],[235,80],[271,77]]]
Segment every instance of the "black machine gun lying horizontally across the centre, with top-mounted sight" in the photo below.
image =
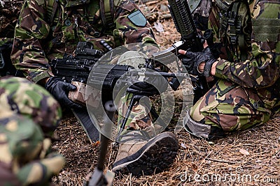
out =
[[[113,100],[112,95],[114,88],[115,91],[116,88],[118,89],[117,91],[120,91],[123,86],[128,87],[134,83],[143,82],[143,79],[149,79],[150,77],[151,79],[168,79],[167,82],[169,86],[175,91],[181,84],[181,81],[186,77],[189,77],[188,73],[183,72],[170,73],[157,71],[153,67],[153,64],[156,63],[155,59],[151,58],[146,58],[144,64],[135,68],[132,65],[99,63],[99,57],[101,56],[102,53],[93,49],[90,42],[79,42],[76,49],[76,56],[66,56],[63,59],[54,59],[50,62],[50,66],[52,68],[52,73],[57,77],[61,77],[66,82],[81,82],[86,84],[87,87],[90,86],[102,90],[103,103],[108,100]],[[130,112],[135,102],[137,102],[137,99],[132,97],[129,109],[127,109],[127,114],[125,114],[126,117],[121,124],[121,129],[125,128],[125,123],[127,122],[128,116],[130,116]],[[93,105],[93,107],[99,107],[99,105]],[[77,113],[79,113],[79,111],[76,111],[76,114],[74,114],[79,118]],[[158,114],[156,114],[155,111],[151,111],[151,114],[154,118],[158,118]],[[80,116],[80,118],[83,118],[83,116]],[[87,122],[89,122],[89,120],[87,120]],[[83,124],[85,129],[87,129],[87,126],[85,126],[86,122],[83,122],[83,120],[80,119],[80,123]],[[92,127],[92,125],[88,127]],[[90,133],[91,132],[87,132],[89,137]],[[92,139],[94,136],[90,138]]]

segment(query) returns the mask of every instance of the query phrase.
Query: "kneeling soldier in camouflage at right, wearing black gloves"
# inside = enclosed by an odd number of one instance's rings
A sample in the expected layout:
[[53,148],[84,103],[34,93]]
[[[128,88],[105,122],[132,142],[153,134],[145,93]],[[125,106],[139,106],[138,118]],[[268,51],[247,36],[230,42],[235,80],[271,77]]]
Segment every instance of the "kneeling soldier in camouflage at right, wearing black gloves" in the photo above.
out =
[[267,122],[280,110],[279,1],[200,3],[209,10],[197,11],[200,20],[208,16],[214,42],[222,47],[218,59],[206,49],[180,51],[195,61],[197,75],[218,79],[190,109],[183,123],[186,130],[211,139]]

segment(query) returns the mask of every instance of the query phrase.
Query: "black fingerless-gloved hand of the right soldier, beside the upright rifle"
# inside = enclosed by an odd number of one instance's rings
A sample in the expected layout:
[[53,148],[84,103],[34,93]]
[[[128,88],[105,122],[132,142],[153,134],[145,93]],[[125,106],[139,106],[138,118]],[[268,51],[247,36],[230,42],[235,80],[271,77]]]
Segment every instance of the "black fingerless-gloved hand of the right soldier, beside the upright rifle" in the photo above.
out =
[[[205,77],[210,76],[211,67],[215,61],[216,59],[211,54],[209,47],[203,49],[202,52],[186,52],[182,59],[182,63],[190,74],[204,75]],[[199,70],[201,63],[205,63],[203,72],[200,72]]]

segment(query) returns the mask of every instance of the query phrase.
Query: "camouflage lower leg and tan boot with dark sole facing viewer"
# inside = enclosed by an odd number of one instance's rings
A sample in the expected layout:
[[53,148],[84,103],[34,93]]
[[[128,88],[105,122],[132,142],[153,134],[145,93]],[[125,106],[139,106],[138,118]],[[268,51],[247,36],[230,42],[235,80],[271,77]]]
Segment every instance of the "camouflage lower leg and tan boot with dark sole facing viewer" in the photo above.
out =
[[[127,113],[130,100],[131,96],[127,95],[120,101],[120,123]],[[118,138],[119,148],[113,171],[135,176],[151,175],[167,169],[174,161],[179,148],[178,139],[172,132],[156,134],[150,108],[151,105],[141,104],[141,100],[132,107],[125,130]]]

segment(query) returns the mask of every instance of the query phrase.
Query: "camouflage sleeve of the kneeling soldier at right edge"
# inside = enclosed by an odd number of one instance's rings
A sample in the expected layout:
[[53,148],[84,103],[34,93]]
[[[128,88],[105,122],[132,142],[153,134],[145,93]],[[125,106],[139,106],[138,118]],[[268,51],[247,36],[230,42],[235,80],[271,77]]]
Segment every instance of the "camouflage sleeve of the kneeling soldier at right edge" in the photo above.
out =
[[[253,15],[251,58],[241,63],[220,60],[216,66],[216,77],[251,88],[272,86],[279,79],[280,6],[274,4],[276,9],[269,6],[265,3],[258,5],[251,14]],[[271,10],[275,10],[275,13]]]

